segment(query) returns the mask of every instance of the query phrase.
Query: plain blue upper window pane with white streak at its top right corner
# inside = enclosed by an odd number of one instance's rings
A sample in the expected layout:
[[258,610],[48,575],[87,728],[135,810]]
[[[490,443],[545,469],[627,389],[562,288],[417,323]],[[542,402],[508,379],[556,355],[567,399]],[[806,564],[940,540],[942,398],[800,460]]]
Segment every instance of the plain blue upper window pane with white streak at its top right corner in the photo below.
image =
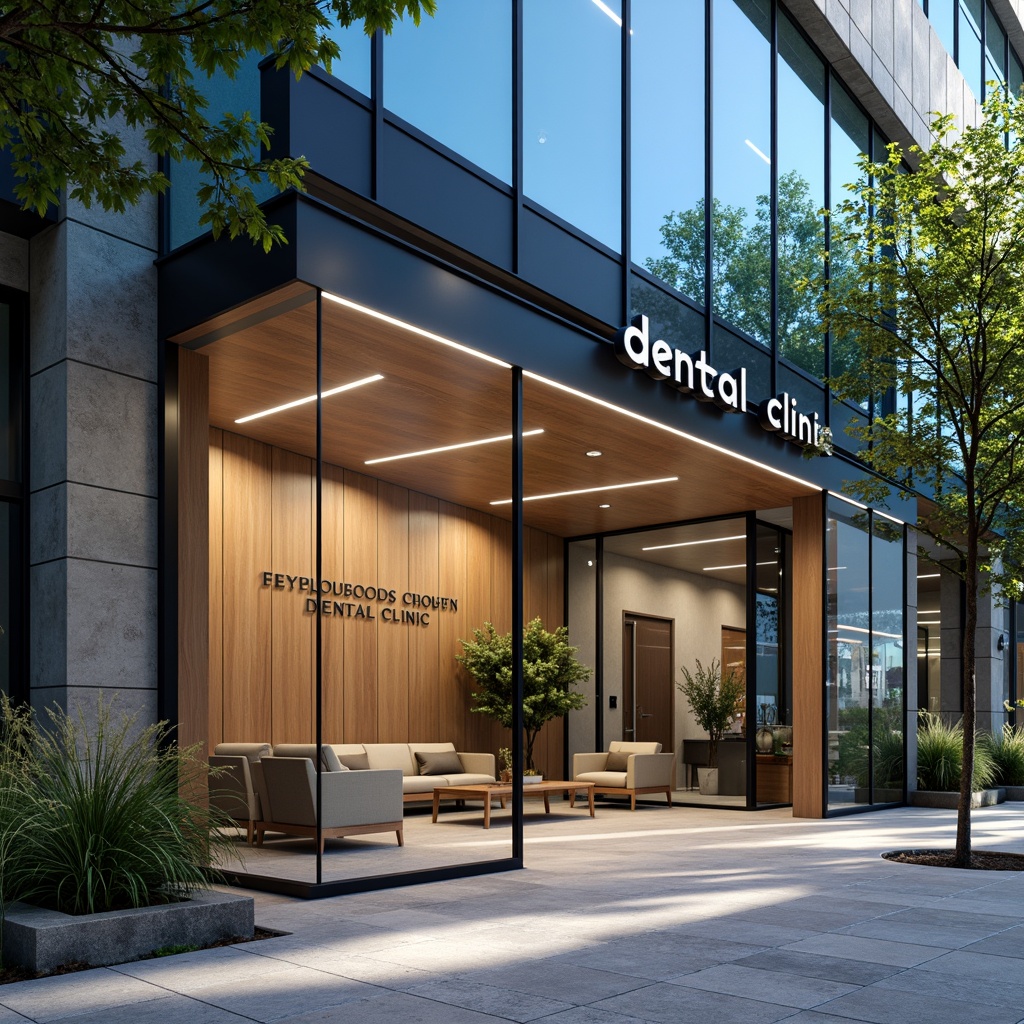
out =
[[612,249],[622,238],[621,87],[620,0],[525,0],[525,193]]

